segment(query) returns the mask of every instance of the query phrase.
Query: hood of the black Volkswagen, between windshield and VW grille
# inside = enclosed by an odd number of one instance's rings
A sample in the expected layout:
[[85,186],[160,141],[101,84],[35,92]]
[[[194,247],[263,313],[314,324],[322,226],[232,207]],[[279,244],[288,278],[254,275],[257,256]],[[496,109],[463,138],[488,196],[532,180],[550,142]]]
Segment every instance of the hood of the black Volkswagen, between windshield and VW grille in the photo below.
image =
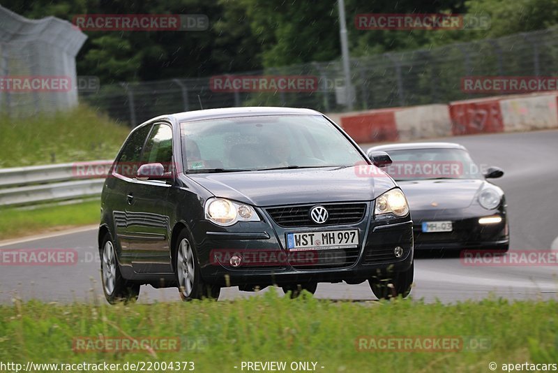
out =
[[217,197],[262,207],[373,200],[395,186],[386,175],[361,177],[356,167],[190,174],[188,177]]

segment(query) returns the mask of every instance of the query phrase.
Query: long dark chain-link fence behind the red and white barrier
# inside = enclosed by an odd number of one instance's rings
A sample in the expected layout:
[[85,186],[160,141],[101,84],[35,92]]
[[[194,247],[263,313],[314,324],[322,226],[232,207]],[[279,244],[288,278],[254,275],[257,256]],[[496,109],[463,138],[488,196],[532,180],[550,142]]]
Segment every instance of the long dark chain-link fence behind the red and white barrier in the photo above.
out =
[[[475,98],[482,95],[462,91],[463,77],[557,75],[558,29],[354,58],[351,73],[355,110]],[[216,92],[210,77],[160,80],[108,85],[96,94],[83,94],[82,101],[133,124],[201,107],[284,105],[323,112],[343,112],[347,108],[343,84],[338,84],[343,77],[340,61],[238,75],[310,75],[319,83],[313,92]]]

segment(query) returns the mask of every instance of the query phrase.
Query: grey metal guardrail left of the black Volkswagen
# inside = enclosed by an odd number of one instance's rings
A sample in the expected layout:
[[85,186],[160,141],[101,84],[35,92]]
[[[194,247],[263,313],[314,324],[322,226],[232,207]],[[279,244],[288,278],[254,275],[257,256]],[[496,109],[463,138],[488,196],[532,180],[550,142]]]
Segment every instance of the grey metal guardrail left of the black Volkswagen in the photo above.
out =
[[0,206],[32,205],[100,196],[105,179],[80,175],[88,165],[112,161],[63,163],[0,169]]

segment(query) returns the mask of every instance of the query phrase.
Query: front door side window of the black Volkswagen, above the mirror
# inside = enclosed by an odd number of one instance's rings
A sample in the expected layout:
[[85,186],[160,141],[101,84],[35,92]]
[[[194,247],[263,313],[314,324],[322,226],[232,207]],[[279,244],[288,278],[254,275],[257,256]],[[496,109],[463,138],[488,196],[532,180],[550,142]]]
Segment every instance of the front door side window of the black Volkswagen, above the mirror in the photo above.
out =
[[165,173],[172,171],[172,129],[167,124],[153,126],[142,155],[145,163],[161,163]]

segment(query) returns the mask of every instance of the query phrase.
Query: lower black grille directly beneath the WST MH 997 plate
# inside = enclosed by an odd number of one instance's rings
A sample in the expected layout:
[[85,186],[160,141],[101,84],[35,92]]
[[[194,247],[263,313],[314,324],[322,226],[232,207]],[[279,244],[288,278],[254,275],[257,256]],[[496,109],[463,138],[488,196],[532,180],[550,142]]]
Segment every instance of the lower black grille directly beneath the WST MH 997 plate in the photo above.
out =
[[[301,251],[299,251],[301,252]],[[307,251],[308,256],[301,254],[289,258],[292,268],[297,270],[322,270],[327,268],[345,268],[350,267],[359,259],[361,249],[329,249],[329,250],[312,250]],[[301,253],[304,253],[302,251]]]

